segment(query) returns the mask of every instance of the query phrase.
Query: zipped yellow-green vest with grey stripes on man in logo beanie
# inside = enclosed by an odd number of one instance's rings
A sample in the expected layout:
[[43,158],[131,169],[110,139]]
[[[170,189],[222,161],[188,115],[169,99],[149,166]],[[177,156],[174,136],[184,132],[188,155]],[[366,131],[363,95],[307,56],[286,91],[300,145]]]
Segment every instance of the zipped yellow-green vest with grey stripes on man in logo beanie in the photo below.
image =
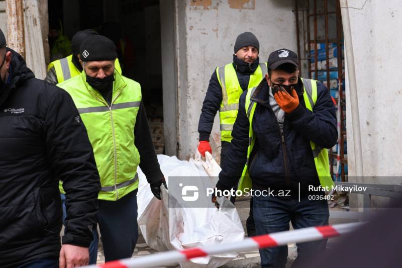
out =
[[[134,126],[141,103],[141,87],[114,72],[112,103],[86,82],[84,71],[59,87],[78,109],[92,144],[102,189],[98,199],[116,201],[138,188],[140,154],[134,144]],[[60,191],[63,189],[60,184]]]

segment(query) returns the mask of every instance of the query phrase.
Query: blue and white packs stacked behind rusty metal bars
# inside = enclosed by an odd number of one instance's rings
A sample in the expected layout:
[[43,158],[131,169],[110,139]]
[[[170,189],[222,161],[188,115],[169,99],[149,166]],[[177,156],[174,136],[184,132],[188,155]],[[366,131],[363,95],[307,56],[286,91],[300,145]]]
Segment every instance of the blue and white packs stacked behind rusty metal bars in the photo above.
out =
[[[327,88],[329,88],[331,92],[331,97],[335,99],[335,102],[337,103],[337,106],[339,105],[339,84],[338,84],[338,47],[336,43],[329,43],[328,44],[328,53],[329,53],[329,62],[327,66],[327,56],[326,56],[326,44],[325,43],[317,43],[317,55],[318,55],[318,60],[317,60],[317,70],[318,73],[316,75],[316,62],[315,62],[315,50],[314,50],[314,43],[311,44],[311,59],[310,59],[310,64],[311,64],[311,70],[312,70],[312,76],[315,80],[321,81]],[[341,45],[341,56],[342,56],[342,93],[343,93],[343,99],[345,100],[345,61],[344,61],[344,45],[342,43]],[[327,81],[327,69],[329,69],[329,85]],[[337,107],[338,108],[338,107]],[[343,114],[346,114],[345,111],[345,106],[343,106],[341,109],[343,109]],[[346,119],[342,118],[340,119],[338,116],[338,120],[343,120],[343,129],[341,131],[346,130]],[[340,123],[340,122],[338,122]],[[338,157],[338,149],[340,149],[340,136],[341,133],[339,133],[339,139],[338,139],[338,144],[336,144],[332,148],[332,153],[333,153],[333,171],[334,171],[334,181],[341,181],[341,165],[337,165]],[[344,158],[347,159],[347,146],[346,146],[346,138],[344,139]],[[339,166],[337,170],[337,166]],[[348,166],[345,165],[345,175],[347,175],[348,172]]]

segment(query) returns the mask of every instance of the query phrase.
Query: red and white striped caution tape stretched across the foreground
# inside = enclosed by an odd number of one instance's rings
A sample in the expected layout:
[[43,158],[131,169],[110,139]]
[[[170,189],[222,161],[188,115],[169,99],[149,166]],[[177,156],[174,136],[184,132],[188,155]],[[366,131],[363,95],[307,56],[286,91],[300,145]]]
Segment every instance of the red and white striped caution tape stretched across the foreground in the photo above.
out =
[[361,223],[347,223],[338,225],[328,225],[319,227],[309,227],[293,231],[278,232],[266,235],[259,235],[245,238],[236,243],[223,243],[210,247],[194,247],[185,250],[167,251],[152,255],[127,258],[116,261],[109,261],[105,264],[89,265],[86,267],[105,267],[105,268],[145,268],[157,267],[161,265],[176,264],[187,261],[191,258],[205,257],[228,252],[240,252],[245,250],[255,250],[257,248],[267,248],[283,246],[288,243],[309,242],[325,238],[339,236],[353,231]]

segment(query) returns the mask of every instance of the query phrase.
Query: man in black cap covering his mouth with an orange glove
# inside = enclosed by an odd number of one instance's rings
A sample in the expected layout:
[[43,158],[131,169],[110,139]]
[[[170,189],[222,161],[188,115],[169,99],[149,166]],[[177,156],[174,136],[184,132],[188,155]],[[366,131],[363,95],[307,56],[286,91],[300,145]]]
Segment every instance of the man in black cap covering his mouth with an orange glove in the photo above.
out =
[[[247,166],[253,190],[265,190],[264,196],[253,196],[257,235],[287,231],[289,222],[294,229],[328,225],[327,200],[317,198],[324,192],[309,191],[309,186],[318,187],[321,181],[310,141],[321,148],[331,148],[336,143],[336,109],[329,90],[315,80],[311,85],[317,83],[317,101],[313,111],[306,108],[304,92],[309,81],[298,76],[297,62],[297,55],[288,49],[272,52],[268,74],[250,93],[251,101],[256,103],[252,116],[256,140]],[[221,191],[236,184],[246,164],[250,126],[246,95],[244,92],[240,97],[233,140],[219,174],[217,189]],[[332,183],[330,176],[328,180]],[[295,263],[308,252],[321,254],[325,246],[326,240],[297,244]],[[261,249],[260,256],[262,267],[285,267],[287,246]]]

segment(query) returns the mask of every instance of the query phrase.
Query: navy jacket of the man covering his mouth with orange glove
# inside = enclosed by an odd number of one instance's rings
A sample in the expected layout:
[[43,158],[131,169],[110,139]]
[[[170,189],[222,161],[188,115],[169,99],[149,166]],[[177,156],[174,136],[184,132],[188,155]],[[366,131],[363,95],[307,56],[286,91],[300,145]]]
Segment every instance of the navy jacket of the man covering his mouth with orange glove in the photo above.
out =
[[[307,194],[309,185],[319,186],[310,141],[321,148],[331,148],[338,139],[336,109],[329,90],[317,82],[317,102],[313,112],[306,108],[303,82],[299,78],[296,92],[299,106],[284,119],[283,137],[269,105],[269,86],[265,79],[252,100],[257,102],[253,117],[256,142],[250,156],[249,174],[254,189],[291,190]],[[230,189],[239,180],[247,159],[249,120],[245,111],[247,92],[240,97],[239,112],[233,127],[233,140],[219,174],[217,187]],[[283,141],[283,142],[282,142]],[[303,196],[302,196],[303,197]]]

